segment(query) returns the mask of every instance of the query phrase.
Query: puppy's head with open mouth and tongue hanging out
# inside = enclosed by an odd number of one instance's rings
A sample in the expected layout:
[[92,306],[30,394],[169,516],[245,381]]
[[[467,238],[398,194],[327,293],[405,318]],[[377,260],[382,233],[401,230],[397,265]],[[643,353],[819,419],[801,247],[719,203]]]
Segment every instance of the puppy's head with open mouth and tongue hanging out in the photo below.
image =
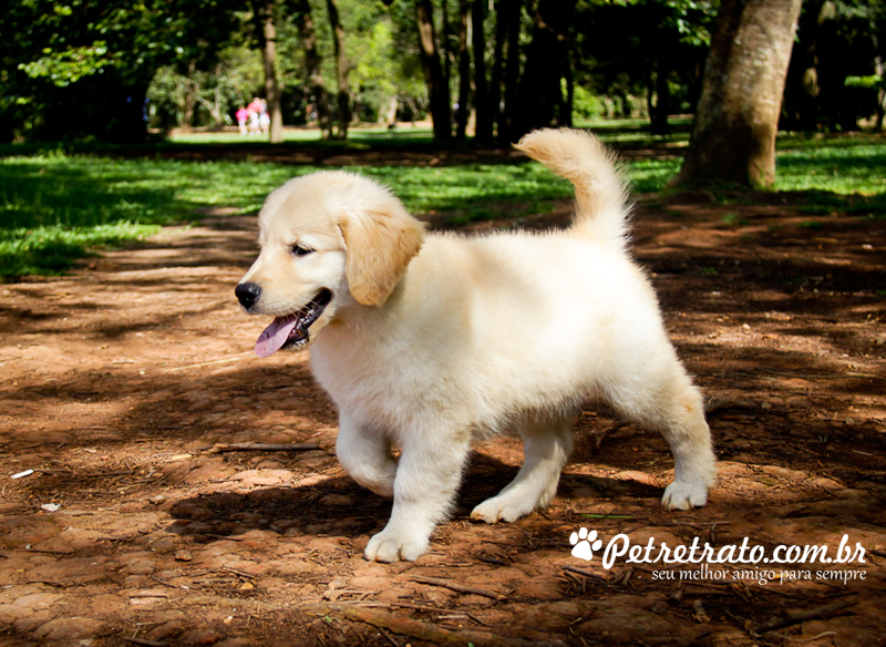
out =
[[342,308],[380,306],[424,240],[423,225],[390,192],[340,171],[271,193],[258,216],[261,253],[235,292],[274,321],[256,352],[305,346]]

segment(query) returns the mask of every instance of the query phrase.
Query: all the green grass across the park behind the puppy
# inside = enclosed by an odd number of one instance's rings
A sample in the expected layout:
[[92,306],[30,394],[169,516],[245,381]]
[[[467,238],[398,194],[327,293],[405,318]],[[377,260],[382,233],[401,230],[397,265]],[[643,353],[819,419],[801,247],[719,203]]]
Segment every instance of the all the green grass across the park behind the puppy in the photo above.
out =
[[[292,136],[299,133],[305,134],[297,131]],[[604,134],[618,136],[618,132]],[[229,145],[225,137],[230,136],[240,141],[237,134],[223,133],[195,135],[194,142],[209,137]],[[629,138],[641,136],[635,127],[626,134]],[[150,151],[195,147],[194,142],[179,137]],[[390,133],[374,129],[356,131],[348,145],[425,146],[429,142],[426,130]],[[120,152],[115,147],[87,154],[65,154],[45,146],[0,150],[0,154],[10,152],[18,154],[0,157],[0,276],[6,277],[62,273],[91,250],[147,236],[163,225],[196,220],[200,207],[255,212],[268,192],[286,179],[317,170],[109,156]],[[677,158],[642,160],[626,168],[633,192],[653,193],[666,187],[679,165]],[[434,213],[454,223],[503,213],[544,213],[553,201],[571,195],[566,181],[535,163],[351,170],[392,187],[411,212]],[[808,196],[804,210],[811,215],[838,212],[886,217],[886,141],[877,136],[782,137],[775,188],[804,192]]]

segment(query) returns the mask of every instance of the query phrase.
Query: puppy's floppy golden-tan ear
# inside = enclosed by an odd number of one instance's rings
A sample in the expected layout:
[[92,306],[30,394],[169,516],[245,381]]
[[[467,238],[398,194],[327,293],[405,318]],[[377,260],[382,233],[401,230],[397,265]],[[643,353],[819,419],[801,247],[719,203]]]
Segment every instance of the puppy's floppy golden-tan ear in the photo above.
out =
[[381,306],[421,249],[424,225],[393,199],[384,208],[349,210],[339,227],[351,295],[365,306]]

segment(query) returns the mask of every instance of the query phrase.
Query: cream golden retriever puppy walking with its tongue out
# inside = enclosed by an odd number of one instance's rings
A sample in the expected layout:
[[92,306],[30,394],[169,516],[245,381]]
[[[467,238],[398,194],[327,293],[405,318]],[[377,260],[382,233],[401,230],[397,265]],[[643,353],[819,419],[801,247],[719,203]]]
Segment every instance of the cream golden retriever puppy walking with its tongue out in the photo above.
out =
[[313,373],[339,409],[341,466],[394,499],[368,559],[427,550],[477,439],[516,431],[525,462],[471,517],[512,522],[545,507],[591,398],[668,440],[666,507],[707,502],[714,456],[702,398],[625,249],[611,158],[569,130],[530,133],[517,148],[575,185],[569,229],[427,234],[388,189],[338,171],[291,179],[259,214],[261,253],[236,295],[274,317],[259,356],[311,343]]

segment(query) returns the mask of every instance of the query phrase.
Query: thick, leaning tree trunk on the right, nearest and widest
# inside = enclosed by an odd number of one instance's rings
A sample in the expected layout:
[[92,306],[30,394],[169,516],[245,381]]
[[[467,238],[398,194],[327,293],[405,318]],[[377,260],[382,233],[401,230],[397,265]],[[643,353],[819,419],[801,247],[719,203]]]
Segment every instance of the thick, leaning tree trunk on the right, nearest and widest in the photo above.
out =
[[723,0],[676,184],[772,186],[801,0]]

